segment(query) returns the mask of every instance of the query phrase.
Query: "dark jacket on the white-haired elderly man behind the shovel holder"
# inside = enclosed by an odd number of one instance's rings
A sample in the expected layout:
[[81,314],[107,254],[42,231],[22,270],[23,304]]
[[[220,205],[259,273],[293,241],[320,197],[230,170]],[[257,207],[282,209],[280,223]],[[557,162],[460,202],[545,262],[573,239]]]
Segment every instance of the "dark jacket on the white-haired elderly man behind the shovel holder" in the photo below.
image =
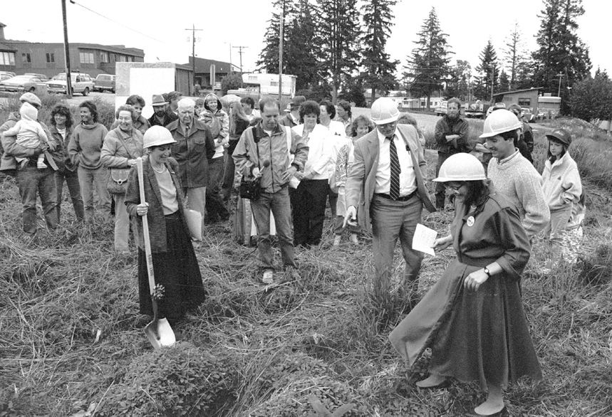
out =
[[167,125],[177,143],[172,145],[172,157],[179,164],[179,177],[185,188],[199,188],[208,184],[208,159],[214,155],[214,140],[207,125],[194,120],[185,137],[179,120]]

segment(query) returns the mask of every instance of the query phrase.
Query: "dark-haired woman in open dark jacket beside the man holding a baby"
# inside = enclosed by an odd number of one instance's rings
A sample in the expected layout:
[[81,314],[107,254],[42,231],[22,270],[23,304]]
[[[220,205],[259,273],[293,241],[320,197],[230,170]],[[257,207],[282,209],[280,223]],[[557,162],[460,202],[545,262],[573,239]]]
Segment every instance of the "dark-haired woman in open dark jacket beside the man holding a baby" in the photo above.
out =
[[66,181],[68,193],[72,200],[72,206],[77,221],[85,219],[85,209],[83,208],[83,197],[81,196],[81,186],[78,184],[78,174],[76,166],[73,165],[68,157],[68,143],[73,132],[74,120],[72,113],[66,105],[58,104],[51,110],[51,127],[49,132],[58,144],[56,152],[53,152],[53,159],[58,166],[56,171],[56,187],[58,190],[57,209],[58,221],[61,216],[61,201],[63,183]]

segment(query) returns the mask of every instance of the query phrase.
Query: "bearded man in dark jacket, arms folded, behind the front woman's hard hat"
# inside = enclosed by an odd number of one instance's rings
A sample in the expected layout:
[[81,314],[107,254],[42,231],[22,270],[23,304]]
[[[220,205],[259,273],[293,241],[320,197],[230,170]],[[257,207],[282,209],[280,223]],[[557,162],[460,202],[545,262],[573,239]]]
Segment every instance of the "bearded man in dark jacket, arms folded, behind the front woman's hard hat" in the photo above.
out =
[[[437,165],[435,176],[438,176],[442,163],[451,155],[459,152],[469,153],[472,147],[467,142],[467,122],[461,117],[461,101],[458,98],[448,100],[447,114],[435,124],[435,142],[437,144]],[[444,184],[435,186],[435,206],[444,210],[446,191]]]

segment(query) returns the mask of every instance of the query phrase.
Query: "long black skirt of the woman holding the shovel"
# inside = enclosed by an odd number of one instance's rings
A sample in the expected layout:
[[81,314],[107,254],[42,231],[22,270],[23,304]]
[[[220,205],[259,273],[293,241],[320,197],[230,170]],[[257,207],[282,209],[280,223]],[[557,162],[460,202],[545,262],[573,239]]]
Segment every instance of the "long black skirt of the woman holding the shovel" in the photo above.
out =
[[[185,312],[195,310],[204,302],[206,291],[195,257],[190,236],[185,232],[180,214],[166,216],[167,252],[153,253],[155,283],[165,288],[164,297],[157,302],[159,317],[181,319]],[[153,315],[147,258],[138,249],[138,284],[140,314]]]

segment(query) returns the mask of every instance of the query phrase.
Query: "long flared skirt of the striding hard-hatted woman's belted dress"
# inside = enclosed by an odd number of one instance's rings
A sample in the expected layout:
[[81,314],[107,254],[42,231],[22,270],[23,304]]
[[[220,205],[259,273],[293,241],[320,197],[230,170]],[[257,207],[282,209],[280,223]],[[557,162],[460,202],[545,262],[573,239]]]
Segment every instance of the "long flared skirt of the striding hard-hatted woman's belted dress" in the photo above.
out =
[[519,282],[502,273],[466,290],[463,280],[477,269],[454,260],[393,329],[391,343],[410,366],[430,347],[433,374],[477,381],[483,389],[487,381],[507,386],[522,376],[541,379]]

